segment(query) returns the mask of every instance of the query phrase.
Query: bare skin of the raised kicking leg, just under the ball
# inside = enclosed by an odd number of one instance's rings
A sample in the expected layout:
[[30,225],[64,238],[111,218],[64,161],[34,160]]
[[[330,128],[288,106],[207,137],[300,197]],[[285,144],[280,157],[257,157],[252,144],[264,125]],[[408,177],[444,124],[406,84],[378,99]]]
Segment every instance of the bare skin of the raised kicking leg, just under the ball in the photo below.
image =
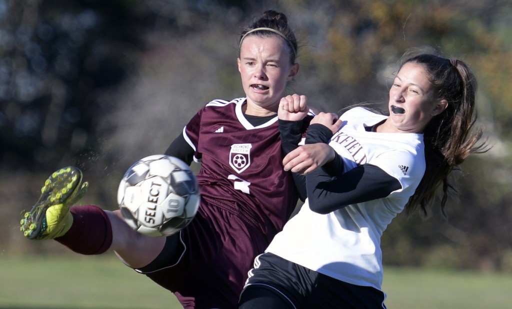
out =
[[127,266],[141,268],[153,261],[165,245],[165,237],[142,235],[128,226],[119,210],[106,211],[112,225],[112,245],[119,259]]

